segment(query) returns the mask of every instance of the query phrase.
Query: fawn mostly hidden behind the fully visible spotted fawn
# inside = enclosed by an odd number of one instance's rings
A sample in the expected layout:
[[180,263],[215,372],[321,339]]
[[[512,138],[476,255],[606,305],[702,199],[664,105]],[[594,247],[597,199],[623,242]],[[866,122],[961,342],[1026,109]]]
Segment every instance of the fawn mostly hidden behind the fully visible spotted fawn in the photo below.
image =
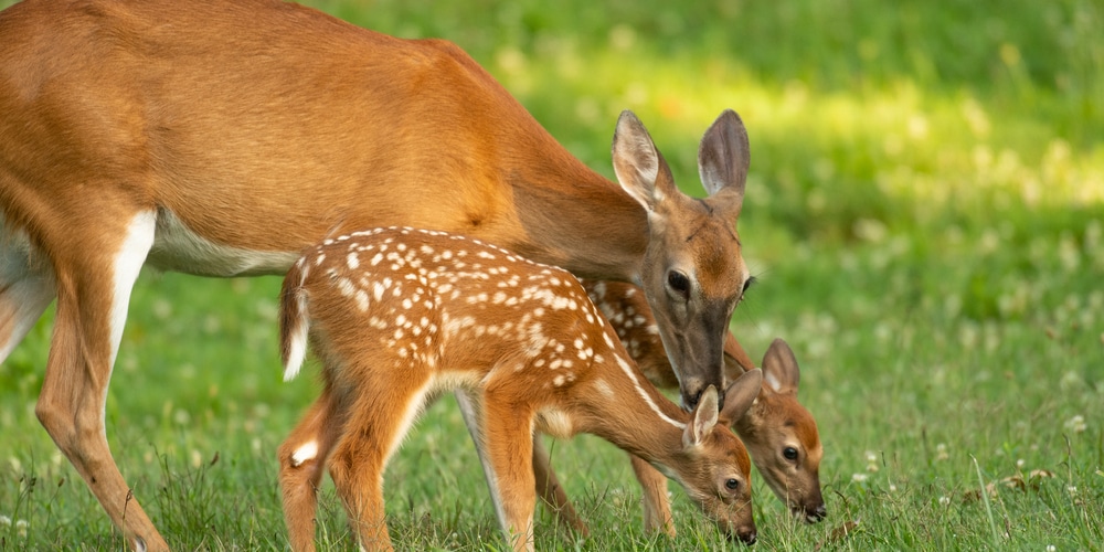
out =
[[[677,385],[655,318],[640,289],[620,282],[584,280],[583,286],[645,376],[660,388]],[[730,381],[755,368],[731,332],[725,336],[724,360]],[[785,341],[776,339],[771,343],[762,370],[764,384],[755,403],[732,421],[732,427],[778,499],[795,516],[810,523],[820,521],[827,516],[819,476],[824,449],[816,421],[797,400],[800,370]],[[586,533],[586,523],[563,491],[548,450],[539,445],[534,448],[533,468],[541,498],[570,527]],[[667,479],[639,458],[633,458],[633,468],[644,489],[645,529],[673,534]]]

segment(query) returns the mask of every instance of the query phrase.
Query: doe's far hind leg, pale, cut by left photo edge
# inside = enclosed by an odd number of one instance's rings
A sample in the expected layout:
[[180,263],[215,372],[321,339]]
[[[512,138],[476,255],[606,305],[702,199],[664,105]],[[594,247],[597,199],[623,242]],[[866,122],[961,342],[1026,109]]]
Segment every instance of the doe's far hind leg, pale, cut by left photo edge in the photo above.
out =
[[44,258],[34,266],[32,255],[25,234],[0,230],[0,362],[54,300],[53,269]]

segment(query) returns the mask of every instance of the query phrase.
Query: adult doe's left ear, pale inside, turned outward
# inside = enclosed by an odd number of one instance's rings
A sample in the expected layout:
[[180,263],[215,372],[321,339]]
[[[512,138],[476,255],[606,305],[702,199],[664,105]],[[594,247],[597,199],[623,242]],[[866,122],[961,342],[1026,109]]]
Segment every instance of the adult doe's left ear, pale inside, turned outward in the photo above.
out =
[[627,109],[617,119],[613,159],[614,172],[622,189],[640,203],[648,214],[655,214],[669,195],[680,193],[675,188],[667,161],[656,149],[648,130]]

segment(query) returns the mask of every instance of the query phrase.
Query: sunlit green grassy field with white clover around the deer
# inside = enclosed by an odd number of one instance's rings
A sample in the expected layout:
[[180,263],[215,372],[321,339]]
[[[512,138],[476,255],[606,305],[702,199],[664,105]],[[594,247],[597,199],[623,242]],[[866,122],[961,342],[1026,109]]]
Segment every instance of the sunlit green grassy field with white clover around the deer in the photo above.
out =
[[[317,4],[457,42],[611,177],[624,108],[692,193],[701,132],[723,108],[743,116],[739,227],[760,282],[733,329],[753,357],[793,346],[829,508],[795,524],[757,480],[757,548],[1104,546],[1098,2]],[[286,548],[275,452],[317,388],[280,381],[278,286],[147,273],[135,291],[108,436],[178,549]],[[33,414],[49,338],[47,314],[0,367],[0,550],[118,549]],[[679,537],[644,534],[613,446],[584,436],[553,457],[594,531],[578,541],[542,513],[538,548],[722,545],[673,486]],[[402,549],[502,548],[452,399],[412,433],[386,496]],[[354,548],[331,491],[320,517],[323,543]]]

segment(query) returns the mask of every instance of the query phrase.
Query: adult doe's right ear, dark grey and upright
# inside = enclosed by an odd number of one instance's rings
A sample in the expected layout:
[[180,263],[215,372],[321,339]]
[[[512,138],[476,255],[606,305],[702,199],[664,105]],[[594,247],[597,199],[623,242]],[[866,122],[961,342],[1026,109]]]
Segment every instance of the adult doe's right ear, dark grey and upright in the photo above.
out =
[[747,129],[736,112],[725,109],[705,130],[698,148],[698,174],[710,198],[722,209],[740,214],[751,166]]

